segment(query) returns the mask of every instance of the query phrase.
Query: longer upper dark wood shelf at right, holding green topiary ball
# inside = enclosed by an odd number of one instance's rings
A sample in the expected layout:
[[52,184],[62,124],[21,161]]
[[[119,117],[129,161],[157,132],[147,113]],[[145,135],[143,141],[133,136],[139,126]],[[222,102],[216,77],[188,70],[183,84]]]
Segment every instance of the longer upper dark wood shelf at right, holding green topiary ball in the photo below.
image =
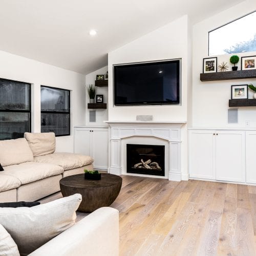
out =
[[201,81],[217,81],[217,80],[245,79],[245,78],[256,78],[256,70],[251,69],[251,70],[239,70],[239,71],[200,74]]

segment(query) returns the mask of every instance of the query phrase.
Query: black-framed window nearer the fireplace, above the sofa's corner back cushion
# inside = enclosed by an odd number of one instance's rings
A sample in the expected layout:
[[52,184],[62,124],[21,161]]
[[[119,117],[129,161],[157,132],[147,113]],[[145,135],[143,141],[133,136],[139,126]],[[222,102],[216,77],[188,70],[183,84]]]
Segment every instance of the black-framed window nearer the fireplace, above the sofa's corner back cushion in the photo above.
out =
[[41,86],[41,133],[70,135],[70,91]]

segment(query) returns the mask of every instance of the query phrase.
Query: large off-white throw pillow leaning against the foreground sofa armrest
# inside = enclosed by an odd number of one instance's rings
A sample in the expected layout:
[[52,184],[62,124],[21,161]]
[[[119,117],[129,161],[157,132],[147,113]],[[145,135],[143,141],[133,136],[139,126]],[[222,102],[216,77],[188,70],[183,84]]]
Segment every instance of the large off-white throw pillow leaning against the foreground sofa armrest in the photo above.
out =
[[31,208],[0,208],[0,224],[27,255],[75,223],[80,194],[60,198]]

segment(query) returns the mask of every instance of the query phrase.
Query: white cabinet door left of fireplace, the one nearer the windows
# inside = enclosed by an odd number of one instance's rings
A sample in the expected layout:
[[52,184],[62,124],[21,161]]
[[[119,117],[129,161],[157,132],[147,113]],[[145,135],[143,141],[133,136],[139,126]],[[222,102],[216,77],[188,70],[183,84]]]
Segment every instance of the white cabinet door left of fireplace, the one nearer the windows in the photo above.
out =
[[92,139],[91,130],[74,130],[74,152],[77,154],[83,154],[87,156],[91,155]]

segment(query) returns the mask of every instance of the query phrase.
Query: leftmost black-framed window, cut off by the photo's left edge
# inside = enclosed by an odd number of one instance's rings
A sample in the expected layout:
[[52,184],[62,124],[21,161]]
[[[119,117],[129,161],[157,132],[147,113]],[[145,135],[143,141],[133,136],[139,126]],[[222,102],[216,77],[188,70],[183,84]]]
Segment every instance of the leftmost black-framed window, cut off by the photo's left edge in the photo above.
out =
[[30,83],[0,78],[0,140],[31,132]]

